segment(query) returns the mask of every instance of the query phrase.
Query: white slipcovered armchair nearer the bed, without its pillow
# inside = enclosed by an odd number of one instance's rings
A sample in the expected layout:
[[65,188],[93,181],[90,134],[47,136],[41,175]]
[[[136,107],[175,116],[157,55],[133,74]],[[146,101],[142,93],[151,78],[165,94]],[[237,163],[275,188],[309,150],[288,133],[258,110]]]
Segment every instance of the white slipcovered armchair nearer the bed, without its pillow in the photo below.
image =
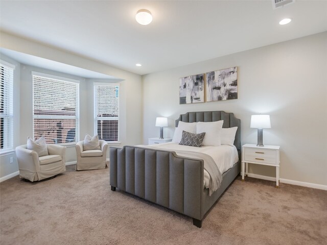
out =
[[108,144],[106,141],[100,139],[101,150],[88,150],[83,151],[83,141],[76,144],[77,163],[76,170],[91,170],[101,169],[107,166],[107,149]]

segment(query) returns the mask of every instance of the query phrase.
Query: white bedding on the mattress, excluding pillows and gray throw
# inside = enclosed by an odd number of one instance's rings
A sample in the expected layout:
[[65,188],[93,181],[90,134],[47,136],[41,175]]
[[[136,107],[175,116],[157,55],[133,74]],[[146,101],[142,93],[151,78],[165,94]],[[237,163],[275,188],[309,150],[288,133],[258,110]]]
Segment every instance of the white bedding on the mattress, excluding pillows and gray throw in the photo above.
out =
[[[223,174],[229,168],[232,167],[233,164],[239,161],[239,154],[235,147],[235,145],[220,145],[220,146],[202,146],[202,147],[194,147],[188,145],[180,145],[173,142],[162,143],[162,144],[153,144],[151,145],[152,148],[158,148],[162,150],[169,150],[169,151],[190,151],[190,152],[200,152],[211,156],[220,173]],[[178,154],[177,154],[178,155]],[[204,187],[209,187],[210,175],[204,169]]]

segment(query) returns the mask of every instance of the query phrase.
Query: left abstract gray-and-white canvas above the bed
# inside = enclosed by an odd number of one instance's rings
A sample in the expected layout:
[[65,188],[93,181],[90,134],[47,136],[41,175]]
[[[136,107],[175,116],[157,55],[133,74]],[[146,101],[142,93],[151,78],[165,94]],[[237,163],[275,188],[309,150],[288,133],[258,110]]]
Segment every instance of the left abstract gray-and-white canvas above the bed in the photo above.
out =
[[179,79],[179,104],[204,102],[204,74]]

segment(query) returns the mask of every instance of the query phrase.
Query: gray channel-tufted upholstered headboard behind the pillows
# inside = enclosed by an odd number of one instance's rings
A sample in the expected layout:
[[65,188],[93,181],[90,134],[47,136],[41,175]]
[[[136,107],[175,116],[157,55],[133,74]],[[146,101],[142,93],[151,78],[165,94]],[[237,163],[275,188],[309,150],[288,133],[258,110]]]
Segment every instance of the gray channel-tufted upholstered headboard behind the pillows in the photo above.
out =
[[238,127],[235,135],[234,145],[237,150],[241,151],[241,120],[236,118],[233,113],[224,111],[197,111],[187,112],[179,115],[175,121],[175,127],[178,126],[179,121],[197,122],[197,121],[219,121],[224,120],[223,128]]

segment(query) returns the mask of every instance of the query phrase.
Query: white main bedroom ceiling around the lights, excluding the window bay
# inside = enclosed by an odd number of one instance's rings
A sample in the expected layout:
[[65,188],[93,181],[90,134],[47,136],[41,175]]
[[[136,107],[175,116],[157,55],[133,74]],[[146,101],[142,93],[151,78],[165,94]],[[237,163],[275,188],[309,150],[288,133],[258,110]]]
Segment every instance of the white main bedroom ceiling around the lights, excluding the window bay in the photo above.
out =
[[[148,26],[135,21],[139,9],[151,11]],[[0,21],[4,32],[144,75],[327,31],[327,1],[274,10],[270,0],[1,0]]]

